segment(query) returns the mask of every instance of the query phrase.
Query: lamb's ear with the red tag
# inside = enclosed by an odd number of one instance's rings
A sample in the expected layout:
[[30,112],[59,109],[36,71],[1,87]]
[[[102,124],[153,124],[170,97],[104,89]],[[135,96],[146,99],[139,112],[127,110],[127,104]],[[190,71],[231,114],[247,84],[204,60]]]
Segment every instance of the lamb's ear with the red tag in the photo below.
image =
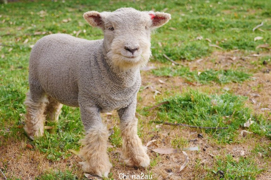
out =
[[169,22],[171,16],[169,13],[149,13],[150,18],[152,19],[151,28],[158,28],[163,26],[165,23]]

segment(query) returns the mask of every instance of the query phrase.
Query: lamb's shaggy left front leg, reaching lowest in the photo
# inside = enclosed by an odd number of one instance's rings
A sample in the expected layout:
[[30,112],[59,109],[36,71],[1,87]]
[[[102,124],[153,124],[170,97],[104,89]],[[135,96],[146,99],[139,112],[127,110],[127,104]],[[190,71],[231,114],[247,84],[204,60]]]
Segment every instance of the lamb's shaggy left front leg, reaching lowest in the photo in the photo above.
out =
[[85,139],[81,140],[84,147],[79,154],[85,160],[80,162],[82,169],[95,176],[108,177],[112,167],[107,154],[108,130],[97,107],[80,105],[80,111],[86,129]]

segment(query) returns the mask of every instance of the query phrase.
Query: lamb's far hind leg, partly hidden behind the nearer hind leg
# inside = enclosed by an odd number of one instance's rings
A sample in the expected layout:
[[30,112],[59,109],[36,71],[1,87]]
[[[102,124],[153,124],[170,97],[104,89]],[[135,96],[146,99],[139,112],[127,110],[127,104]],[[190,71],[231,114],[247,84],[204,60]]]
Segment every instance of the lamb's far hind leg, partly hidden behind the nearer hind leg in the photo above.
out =
[[45,114],[47,115],[47,119],[51,122],[57,122],[63,104],[61,104],[51,96],[48,96],[48,101],[49,103],[45,112]]

